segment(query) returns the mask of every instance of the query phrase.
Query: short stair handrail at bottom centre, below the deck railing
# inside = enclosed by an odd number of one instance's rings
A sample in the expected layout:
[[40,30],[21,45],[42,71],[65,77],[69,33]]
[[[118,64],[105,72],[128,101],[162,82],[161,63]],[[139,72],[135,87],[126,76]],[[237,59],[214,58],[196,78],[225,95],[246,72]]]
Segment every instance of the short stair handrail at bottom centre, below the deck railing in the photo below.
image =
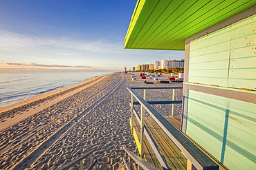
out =
[[138,166],[140,166],[143,169],[146,170],[159,170],[158,168],[154,167],[152,164],[149,164],[149,162],[143,160],[143,158],[140,158],[140,156],[137,156],[135,153],[133,153],[132,151],[130,151],[129,149],[127,149],[126,147],[122,147],[125,150],[125,153],[128,154],[129,156],[129,162],[130,164],[128,165],[125,158],[124,158],[124,162],[126,162],[125,167],[127,167],[127,169],[131,169],[131,159],[134,160],[134,162],[136,162],[136,164],[138,164]]

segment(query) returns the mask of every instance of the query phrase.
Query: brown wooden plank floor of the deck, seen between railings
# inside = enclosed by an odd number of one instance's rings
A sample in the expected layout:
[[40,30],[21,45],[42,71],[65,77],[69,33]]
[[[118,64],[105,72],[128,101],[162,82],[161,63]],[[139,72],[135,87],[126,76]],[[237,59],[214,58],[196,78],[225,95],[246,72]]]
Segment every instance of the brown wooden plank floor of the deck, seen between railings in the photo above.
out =
[[[165,118],[172,123],[177,129],[181,127],[181,116],[165,116]],[[158,149],[160,153],[165,157],[165,160],[168,166],[171,169],[186,169],[188,159],[185,158],[183,153],[179,150],[176,145],[170,140],[170,138],[165,134],[165,132],[156,124],[156,122],[150,118],[145,117],[145,126],[149,130],[149,133],[154,138],[156,145],[158,145]],[[138,150],[140,150],[140,125],[136,118],[134,119],[134,138],[136,140],[136,145],[138,146]],[[158,167],[158,169],[163,169],[161,164],[159,163],[156,155],[152,147],[150,147],[149,142],[146,138],[144,138],[144,146],[145,146],[145,159],[147,162],[153,164]]]

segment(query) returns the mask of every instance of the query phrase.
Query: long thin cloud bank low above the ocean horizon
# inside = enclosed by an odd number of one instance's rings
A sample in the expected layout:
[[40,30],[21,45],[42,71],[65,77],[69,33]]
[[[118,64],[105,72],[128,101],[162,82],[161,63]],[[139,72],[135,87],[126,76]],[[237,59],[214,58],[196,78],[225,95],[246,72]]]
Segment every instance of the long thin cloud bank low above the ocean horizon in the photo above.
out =
[[92,68],[91,66],[87,65],[43,65],[39,63],[0,63],[0,65],[8,65],[8,66],[26,66],[26,67],[31,67],[31,66],[37,66],[37,67],[77,67],[77,68]]

